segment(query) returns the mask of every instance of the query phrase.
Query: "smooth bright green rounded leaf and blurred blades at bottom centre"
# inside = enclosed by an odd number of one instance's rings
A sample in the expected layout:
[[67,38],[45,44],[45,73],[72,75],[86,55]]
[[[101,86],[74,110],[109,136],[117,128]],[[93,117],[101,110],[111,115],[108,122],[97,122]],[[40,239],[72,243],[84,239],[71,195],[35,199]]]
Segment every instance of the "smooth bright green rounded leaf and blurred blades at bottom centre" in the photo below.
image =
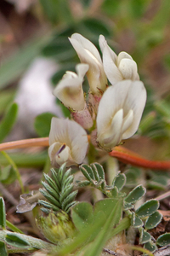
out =
[[[106,201],[108,201],[108,204]],[[87,202],[80,202],[71,208],[71,217],[79,233],[73,242],[59,250],[59,255],[73,253],[77,249],[79,249],[79,252],[86,253],[85,255],[99,255],[105,245],[105,241],[112,236],[113,226],[121,218],[122,201],[106,199],[99,202],[101,202],[100,206],[97,205],[96,207],[95,205],[94,211],[93,207]],[[83,224],[85,225],[83,226]],[[118,233],[121,230],[122,227],[116,232]],[[117,234],[116,232],[115,235]],[[89,241],[92,241],[92,243],[90,247],[87,247]],[[89,254],[92,252],[93,254]]]

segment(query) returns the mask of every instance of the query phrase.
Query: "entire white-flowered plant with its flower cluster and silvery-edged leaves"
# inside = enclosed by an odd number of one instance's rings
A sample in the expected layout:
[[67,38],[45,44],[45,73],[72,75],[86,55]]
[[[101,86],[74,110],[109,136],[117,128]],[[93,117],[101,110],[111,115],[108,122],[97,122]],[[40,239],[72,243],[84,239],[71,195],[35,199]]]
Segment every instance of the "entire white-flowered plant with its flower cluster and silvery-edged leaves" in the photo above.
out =
[[[39,249],[56,256],[133,255],[133,249],[157,255],[158,247],[168,249],[170,241],[168,233],[150,235],[161,222],[159,202],[144,200],[142,183],[129,191],[126,175],[116,170],[111,158],[114,148],[138,130],[144,111],[146,90],[137,64],[126,52],[116,55],[103,36],[99,37],[102,58],[82,35],[75,33],[69,40],[81,63],[77,73],[64,74],[54,96],[70,110],[71,119],[52,119],[48,148],[52,169],[44,174],[43,198],[34,204],[39,207],[37,226],[48,241],[6,230],[2,199],[2,255]],[[88,93],[82,89],[85,76]],[[77,171],[80,180],[74,178]],[[91,189],[94,199],[78,201],[80,188]],[[139,247],[134,247],[136,235]]]

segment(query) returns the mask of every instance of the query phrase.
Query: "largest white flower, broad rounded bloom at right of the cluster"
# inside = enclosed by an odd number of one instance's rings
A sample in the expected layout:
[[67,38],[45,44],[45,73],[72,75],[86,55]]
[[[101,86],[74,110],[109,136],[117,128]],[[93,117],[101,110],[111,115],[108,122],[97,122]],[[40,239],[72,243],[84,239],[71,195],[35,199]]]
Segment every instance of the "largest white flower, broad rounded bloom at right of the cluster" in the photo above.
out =
[[97,142],[111,150],[122,139],[138,130],[146,102],[146,90],[140,81],[123,80],[110,86],[99,102]]

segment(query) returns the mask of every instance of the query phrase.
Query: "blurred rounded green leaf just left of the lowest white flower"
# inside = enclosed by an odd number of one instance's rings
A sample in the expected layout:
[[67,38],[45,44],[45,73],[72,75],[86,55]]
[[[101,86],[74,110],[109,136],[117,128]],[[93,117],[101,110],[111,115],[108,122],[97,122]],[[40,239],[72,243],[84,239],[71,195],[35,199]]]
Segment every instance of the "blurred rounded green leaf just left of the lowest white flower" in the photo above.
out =
[[41,113],[37,115],[34,123],[35,130],[39,137],[48,137],[53,113]]

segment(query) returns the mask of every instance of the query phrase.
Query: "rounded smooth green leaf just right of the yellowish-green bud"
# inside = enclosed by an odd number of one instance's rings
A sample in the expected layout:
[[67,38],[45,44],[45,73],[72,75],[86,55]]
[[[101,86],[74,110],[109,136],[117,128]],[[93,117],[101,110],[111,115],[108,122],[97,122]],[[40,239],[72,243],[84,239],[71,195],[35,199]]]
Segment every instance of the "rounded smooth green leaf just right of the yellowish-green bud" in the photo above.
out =
[[71,208],[71,218],[77,230],[83,230],[88,224],[94,222],[94,210],[90,203],[80,202]]

